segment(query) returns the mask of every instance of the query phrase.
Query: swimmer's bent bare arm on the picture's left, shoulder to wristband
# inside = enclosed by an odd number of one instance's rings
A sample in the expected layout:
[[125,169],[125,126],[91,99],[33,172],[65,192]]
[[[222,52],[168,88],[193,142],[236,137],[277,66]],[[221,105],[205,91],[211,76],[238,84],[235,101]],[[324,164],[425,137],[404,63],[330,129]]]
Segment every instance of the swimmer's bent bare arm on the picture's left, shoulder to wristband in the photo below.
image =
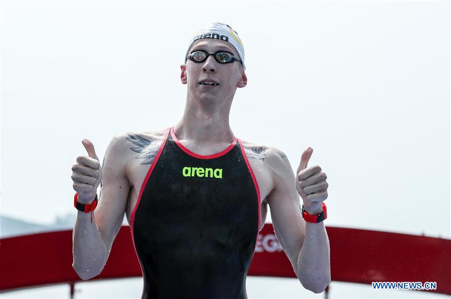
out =
[[114,136],[105,153],[97,208],[78,212],[73,230],[73,268],[82,279],[97,276],[106,264],[123,221],[130,184],[125,175],[122,135]]

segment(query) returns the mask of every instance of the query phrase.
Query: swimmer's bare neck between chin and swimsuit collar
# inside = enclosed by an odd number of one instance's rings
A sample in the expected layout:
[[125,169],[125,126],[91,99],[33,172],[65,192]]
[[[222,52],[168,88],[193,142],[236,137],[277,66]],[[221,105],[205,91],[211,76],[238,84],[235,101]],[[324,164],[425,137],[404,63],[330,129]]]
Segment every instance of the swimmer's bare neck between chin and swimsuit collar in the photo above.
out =
[[213,145],[230,143],[234,135],[229,125],[230,105],[200,107],[187,101],[182,119],[174,125],[179,140]]

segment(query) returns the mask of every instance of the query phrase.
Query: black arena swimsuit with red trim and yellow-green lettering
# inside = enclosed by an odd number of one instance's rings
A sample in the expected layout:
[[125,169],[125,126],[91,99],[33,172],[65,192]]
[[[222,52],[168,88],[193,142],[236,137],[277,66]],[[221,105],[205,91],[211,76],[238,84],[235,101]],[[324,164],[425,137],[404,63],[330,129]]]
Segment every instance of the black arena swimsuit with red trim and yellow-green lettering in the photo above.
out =
[[130,218],[141,298],[247,298],[259,202],[241,140],[201,156],[168,128]]

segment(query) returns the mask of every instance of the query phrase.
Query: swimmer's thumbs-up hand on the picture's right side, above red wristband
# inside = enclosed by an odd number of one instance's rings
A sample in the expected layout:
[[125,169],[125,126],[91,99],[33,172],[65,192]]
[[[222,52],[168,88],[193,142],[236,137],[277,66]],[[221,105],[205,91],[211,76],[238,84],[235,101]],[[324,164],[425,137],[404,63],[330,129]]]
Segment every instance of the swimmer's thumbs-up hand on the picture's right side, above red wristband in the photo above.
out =
[[328,196],[327,188],[329,187],[326,182],[327,175],[322,172],[319,165],[307,168],[312,153],[311,147],[303,152],[296,172],[297,192],[304,201],[304,209],[310,215],[320,214],[323,211],[323,201]]

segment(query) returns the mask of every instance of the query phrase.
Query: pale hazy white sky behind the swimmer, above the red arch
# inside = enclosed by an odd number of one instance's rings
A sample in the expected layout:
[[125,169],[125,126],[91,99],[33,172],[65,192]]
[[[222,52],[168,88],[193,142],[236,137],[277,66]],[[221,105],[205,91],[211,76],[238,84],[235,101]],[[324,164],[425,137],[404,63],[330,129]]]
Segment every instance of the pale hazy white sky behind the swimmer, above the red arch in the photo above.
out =
[[450,238],[449,1],[3,1],[0,213],[75,220],[81,140],[102,161],[117,133],[173,126],[180,64],[212,22],[244,44],[235,136],[293,170],[312,147],[326,226]]

